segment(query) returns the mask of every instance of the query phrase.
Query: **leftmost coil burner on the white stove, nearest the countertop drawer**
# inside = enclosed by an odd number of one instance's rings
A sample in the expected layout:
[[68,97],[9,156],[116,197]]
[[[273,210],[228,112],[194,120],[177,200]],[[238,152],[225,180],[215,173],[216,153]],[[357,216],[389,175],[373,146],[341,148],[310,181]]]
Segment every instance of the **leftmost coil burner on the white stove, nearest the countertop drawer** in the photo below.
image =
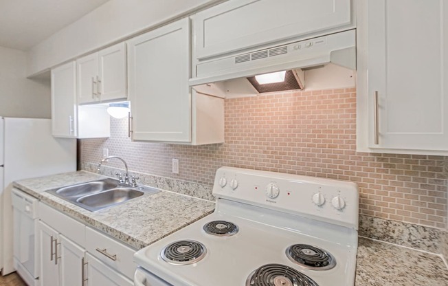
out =
[[197,241],[176,241],[161,250],[161,258],[174,265],[197,263],[207,253],[202,243]]

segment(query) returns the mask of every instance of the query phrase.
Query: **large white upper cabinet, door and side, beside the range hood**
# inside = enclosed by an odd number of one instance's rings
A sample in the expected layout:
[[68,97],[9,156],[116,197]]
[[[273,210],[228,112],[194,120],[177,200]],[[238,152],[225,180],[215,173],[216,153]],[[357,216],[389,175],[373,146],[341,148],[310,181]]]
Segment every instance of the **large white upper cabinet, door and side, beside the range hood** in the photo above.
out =
[[224,142],[224,100],[188,87],[190,19],[128,41],[132,140]]

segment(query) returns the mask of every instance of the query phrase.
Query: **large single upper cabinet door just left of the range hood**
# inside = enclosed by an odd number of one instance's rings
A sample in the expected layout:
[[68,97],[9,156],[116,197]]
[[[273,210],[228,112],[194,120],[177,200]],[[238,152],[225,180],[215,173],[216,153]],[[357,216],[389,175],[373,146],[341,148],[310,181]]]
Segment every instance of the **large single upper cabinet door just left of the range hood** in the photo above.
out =
[[133,140],[190,142],[190,22],[128,42]]

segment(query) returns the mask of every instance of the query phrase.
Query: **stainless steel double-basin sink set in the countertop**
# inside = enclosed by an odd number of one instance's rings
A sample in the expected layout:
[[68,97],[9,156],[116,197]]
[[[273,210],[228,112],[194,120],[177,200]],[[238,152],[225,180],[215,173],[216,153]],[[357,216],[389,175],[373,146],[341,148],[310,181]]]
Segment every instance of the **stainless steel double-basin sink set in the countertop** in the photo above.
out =
[[74,203],[76,206],[95,212],[103,208],[117,206],[130,199],[155,194],[159,190],[144,186],[133,188],[120,184],[117,179],[107,178],[56,188],[47,192],[61,199],[65,199],[65,201]]

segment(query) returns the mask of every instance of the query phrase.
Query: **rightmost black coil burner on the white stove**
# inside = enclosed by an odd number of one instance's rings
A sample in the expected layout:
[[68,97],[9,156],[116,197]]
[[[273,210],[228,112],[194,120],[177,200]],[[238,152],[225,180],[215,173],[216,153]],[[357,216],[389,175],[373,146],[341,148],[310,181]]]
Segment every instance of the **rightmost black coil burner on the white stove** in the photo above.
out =
[[329,270],[336,265],[336,260],[330,253],[312,245],[291,245],[286,254],[293,263],[310,270]]

